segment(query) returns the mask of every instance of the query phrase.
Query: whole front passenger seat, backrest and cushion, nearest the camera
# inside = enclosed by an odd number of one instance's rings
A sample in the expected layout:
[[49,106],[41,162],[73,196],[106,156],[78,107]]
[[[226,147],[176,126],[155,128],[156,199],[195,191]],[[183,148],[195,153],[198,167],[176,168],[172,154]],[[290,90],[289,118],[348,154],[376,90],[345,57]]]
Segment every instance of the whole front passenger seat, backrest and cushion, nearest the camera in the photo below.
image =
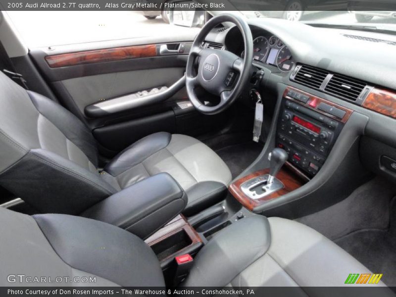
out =
[[[63,214],[31,217],[0,208],[0,238],[1,267],[25,276],[96,277],[96,283],[85,286],[164,286],[153,251],[135,235],[103,222]],[[18,278],[8,283],[10,273],[0,269],[0,286],[51,285]],[[210,239],[182,286],[300,286],[304,290],[294,293],[307,296],[307,287],[344,286],[350,273],[371,272],[300,223],[254,215]]]

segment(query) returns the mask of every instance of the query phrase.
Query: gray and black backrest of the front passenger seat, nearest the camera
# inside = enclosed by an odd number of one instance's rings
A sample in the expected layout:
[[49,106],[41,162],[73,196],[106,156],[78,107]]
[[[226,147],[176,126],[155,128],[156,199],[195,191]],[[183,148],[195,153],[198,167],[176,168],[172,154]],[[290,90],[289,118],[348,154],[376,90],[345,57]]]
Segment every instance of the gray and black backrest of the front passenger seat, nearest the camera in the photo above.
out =
[[[106,223],[0,208],[0,238],[0,286],[164,286],[151,248]],[[34,283],[32,277],[47,277],[47,282]],[[49,277],[61,279],[49,283]]]

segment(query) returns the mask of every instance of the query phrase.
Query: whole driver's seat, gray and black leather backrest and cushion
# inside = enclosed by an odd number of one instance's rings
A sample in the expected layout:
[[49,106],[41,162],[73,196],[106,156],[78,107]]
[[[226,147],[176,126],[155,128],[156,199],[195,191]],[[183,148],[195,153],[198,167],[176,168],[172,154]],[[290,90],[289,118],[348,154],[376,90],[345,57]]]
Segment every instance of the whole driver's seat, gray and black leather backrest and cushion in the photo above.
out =
[[169,173],[187,193],[185,215],[225,196],[230,170],[192,137],[149,135],[99,172],[96,141],[75,115],[3,73],[0,90],[0,185],[41,212],[80,214],[161,172]]

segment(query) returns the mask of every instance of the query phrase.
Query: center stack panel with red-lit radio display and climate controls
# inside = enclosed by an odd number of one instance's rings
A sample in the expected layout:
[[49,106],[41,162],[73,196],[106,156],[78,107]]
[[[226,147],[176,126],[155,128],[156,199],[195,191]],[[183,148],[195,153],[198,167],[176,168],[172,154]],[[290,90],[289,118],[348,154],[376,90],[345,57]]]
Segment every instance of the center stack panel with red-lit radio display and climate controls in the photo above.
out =
[[[277,146],[289,153],[288,161],[308,177],[318,173],[344,127],[347,112],[304,92],[288,89],[277,129]],[[333,108],[321,109],[323,104]],[[337,114],[337,115],[335,115]],[[343,116],[342,118],[339,118]]]

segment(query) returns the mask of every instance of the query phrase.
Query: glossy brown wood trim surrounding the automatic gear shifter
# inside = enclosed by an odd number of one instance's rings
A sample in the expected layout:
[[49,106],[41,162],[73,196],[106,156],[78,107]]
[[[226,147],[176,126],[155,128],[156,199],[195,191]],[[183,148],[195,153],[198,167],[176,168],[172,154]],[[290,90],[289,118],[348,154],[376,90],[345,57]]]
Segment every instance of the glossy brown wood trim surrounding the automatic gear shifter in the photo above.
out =
[[306,180],[301,179],[299,176],[295,175],[288,167],[283,167],[277,174],[277,178],[285,186],[282,190],[275,192],[269,196],[263,197],[261,199],[251,199],[247,197],[241,190],[241,185],[246,181],[255,178],[260,175],[265,175],[269,173],[269,168],[263,169],[254,173],[251,173],[236,182],[232,183],[228,189],[230,193],[247,209],[253,210],[255,207],[265,203],[266,201],[279,198],[287,193],[290,193],[306,183]]

